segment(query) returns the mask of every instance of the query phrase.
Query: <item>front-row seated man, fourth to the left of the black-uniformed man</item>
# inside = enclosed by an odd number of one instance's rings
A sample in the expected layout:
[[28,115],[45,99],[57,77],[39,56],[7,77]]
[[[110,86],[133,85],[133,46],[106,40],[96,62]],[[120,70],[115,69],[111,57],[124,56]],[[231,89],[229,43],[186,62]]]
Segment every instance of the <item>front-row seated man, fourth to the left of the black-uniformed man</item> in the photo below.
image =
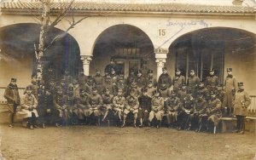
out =
[[100,125],[101,109],[102,109],[102,96],[97,93],[96,88],[92,88],[92,93],[88,100],[88,106],[90,109],[90,124],[96,123]]

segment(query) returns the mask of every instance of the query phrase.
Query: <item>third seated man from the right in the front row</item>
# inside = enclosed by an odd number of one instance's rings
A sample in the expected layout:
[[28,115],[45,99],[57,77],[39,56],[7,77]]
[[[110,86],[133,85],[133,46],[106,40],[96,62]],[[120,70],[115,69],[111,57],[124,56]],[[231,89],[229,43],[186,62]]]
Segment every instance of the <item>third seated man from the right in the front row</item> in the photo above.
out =
[[187,91],[186,97],[181,102],[181,113],[179,114],[179,128],[187,129],[191,128],[191,121],[195,111],[195,100],[192,97],[191,91]]

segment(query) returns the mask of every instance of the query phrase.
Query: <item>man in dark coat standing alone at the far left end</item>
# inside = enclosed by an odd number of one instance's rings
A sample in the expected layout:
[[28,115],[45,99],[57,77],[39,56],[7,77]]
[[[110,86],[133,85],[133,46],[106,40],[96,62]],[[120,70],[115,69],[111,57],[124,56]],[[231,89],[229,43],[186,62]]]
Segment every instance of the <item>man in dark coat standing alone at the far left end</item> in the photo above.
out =
[[9,127],[14,127],[15,112],[20,105],[20,94],[16,84],[17,79],[11,78],[11,82],[4,91],[4,98],[7,100],[9,109]]

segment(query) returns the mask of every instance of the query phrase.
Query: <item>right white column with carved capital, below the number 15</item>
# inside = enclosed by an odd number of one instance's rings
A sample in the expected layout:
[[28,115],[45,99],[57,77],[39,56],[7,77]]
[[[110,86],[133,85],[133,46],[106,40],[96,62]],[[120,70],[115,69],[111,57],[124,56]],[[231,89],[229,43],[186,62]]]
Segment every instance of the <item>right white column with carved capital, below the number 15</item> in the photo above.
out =
[[160,77],[162,69],[165,66],[168,50],[169,49],[154,49],[155,62],[157,63],[157,79]]

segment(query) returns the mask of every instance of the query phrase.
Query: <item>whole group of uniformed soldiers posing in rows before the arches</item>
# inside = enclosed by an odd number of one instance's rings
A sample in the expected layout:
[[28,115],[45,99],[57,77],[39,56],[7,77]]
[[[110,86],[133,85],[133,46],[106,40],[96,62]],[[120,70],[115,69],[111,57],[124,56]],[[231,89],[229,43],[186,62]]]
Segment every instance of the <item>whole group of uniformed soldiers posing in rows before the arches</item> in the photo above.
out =
[[16,79],[12,78],[4,94],[10,108],[9,127],[14,127],[15,111],[21,106],[29,129],[38,128],[38,124],[59,127],[106,122],[120,127],[129,123],[134,127],[166,125],[215,133],[220,117],[226,114],[236,115],[237,132],[244,133],[244,111],[250,98],[243,83],[236,83],[231,68],[227,69],[224,87],[219,87],[213,69],[205,82],[195,76],[194,70],[189,71],[187,81],[179,69],[171,78],[166,67],[158,80],[144,66],[137,72],[131,71],[127,79],[122,72],[116,72],[112,61],[105,67],[104,76],[96,70],[95,76],[85,76],[81,71],[73,78],[65,71],[58,82],[49,68],[44,79],[32,77],[32,84],[26,87],[21,99]]

